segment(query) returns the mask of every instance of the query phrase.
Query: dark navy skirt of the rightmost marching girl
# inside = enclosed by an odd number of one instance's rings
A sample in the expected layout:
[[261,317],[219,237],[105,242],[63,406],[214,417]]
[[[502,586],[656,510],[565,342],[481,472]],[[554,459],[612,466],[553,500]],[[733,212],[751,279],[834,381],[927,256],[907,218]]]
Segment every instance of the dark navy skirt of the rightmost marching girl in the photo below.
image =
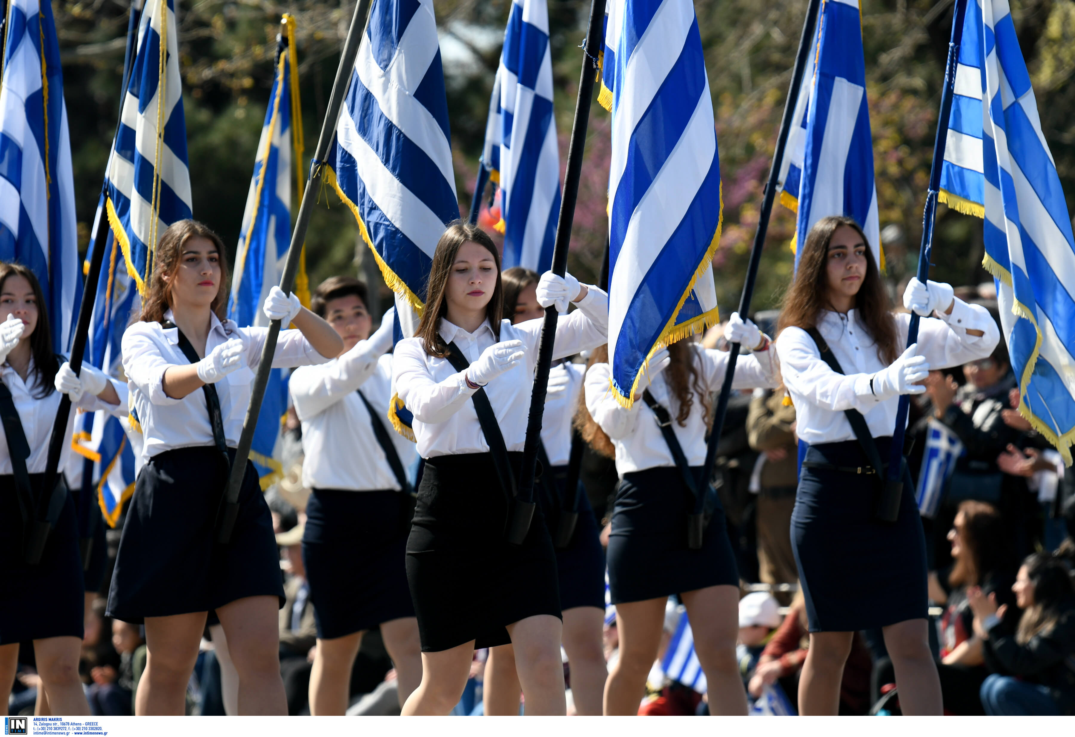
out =
[[[891,437],[876,438],[883,459]],[[869,465],[857,440],[821,443],[806,462]],[[874,519],[877,477],[803,468],[791,545],[811,632],[855,632],[927,616],[926,541],[909,476],[895,522]]]

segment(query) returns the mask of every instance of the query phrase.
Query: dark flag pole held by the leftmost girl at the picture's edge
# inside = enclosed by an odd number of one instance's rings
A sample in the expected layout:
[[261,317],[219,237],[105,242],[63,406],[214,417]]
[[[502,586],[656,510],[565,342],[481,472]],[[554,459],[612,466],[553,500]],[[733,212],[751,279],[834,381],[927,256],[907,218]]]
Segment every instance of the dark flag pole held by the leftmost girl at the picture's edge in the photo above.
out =
[[[123,89],[119,93],[119,115],[116,118],[116,129],[123,122],[124,96],[127,95],[127,84],[130,80],[131,62],[131,33],[137,29],[134,3],[131,3],[130,16],[127,21],[127,49],[124,53],[124,77]],[[104,197],[104,187],[101,187],[101,197]],[[103,202],[103,200],[102,200]],[[86,272],[86,281],[82,290],[82,303],[78,305],[78,322],[75,326],[74,338],[71,343],[70,364],[71,371],[75,375],[82,373],[82,359],[86,352],[86,339],[89,334],[89,321],[94,315],[94,302],[97,300],[97,283],[101,276],[101,262],[104,259],[104,243],[109,237],[109,218],[104,215],[104,208],[99,206],[94,218],[94,236],[90,245],[94,246],[89,254],[89,270]],[[31,522],[26,541],[26,560],[31,565],[41,561],[41,554],[52,532],[53,522],[59,516],[58,509],[62,502],[62,496],[57,497],[56,486],[59,478],[60,456],[63,451],[63,440],[67,437],[68,418],[71,415],[71,398],[67,394],[60,396],[60,404],[56,408],[56,418],[53,420],[53,432],[48,438],[48,454],[45,457],[45,478],[41,487],[41,495],[37,500],[34,518]],[[54,514],[49,514],[49,511]]]

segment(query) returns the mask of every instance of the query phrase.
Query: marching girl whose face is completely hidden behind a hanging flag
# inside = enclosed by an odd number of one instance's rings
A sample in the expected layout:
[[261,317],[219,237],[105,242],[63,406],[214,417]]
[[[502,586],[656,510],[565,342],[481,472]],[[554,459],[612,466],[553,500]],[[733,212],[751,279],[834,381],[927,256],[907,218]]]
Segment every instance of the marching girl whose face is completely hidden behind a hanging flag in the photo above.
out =
[[[772,387],[776,368],[769,338],[733,313],[725,336],[754,349],[735,365],[736,389]],[[739,570],[716,503],[699,548],[688,537],[694,495],[685,480],[703,475],[710,396],[720,390],[728,353],[691,341],[673,343],[649,359],[624,408],[608,391],[607,363],[586,372],[586,407],[616,448],[620,477],[608,537],[608,584],[616,605],[619,661],[605,684],[605,714],[635,714],[646,675],[657,657],[664,605],[679,594],[693,624],[694,651],[708,682],[710,710],[745,714],[746,695],[735,661]],[[647,406],[650,405],[650,406]],[[676,447],[664,432],[671,428]],[[680,468],[676,456],[688,468]],[[705,476],[707,481],[708,477]],[[712,496],[716,502],[715,492]]]

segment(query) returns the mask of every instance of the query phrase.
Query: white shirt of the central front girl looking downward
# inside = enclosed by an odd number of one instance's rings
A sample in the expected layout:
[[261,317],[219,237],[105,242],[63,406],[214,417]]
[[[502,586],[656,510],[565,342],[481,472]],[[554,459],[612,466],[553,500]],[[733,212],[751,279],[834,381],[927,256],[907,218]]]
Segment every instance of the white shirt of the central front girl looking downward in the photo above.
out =
[[[561,315],[557,321],[554,359],[596,348],[607,341],[608,295],[597,287],[589,287],[586,297],[576,304],[577,310]],[[539,318],[515,326],[510,320],[500,323],[500,341],[521,341],[526,350],[526,360],[485,387],[508,450],[522,450],[526,439],[543,322]],[[488,320],[468,333],[441,318],[440,334],[445,343],[454,341],[471,363],[497,343]],[[417,337],[396,345],[392,371],[396,392],[414,415],[414,434],[422,458],[489,452],[471,402],[476,390],[467,386],[463,372],[453,368],[446,358],[429,356],[421,338]]]

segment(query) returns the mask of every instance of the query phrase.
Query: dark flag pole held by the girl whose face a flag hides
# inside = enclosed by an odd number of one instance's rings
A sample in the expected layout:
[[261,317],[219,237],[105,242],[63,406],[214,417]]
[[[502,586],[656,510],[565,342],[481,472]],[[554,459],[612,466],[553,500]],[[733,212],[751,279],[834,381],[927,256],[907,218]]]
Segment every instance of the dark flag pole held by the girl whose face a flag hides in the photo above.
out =
[[[739,314],[744,318],[750,312],[750,300],[754,298],[754,285],[758,278],[758,266],[761,263],[761,250],[765,245],[765,234],[769,232],[769,217],[773,212],[773,201],[776,199],[777,179],[780,175],[780,167],[784,163],[785,149],[788,146],[788,135],[791,133],[792,119],[796,112],[796,104],[799,102],[799,91],[802,87],[803,76],[806,73],[806,66],[809,63],[809,49],[817,27],[818,11],[821,8],[821,0],[809,0],[806,5],[806,17],[803,18],[803,32],[799,38],[799,52],[796,55],[796,66],[791,71],[791,86],[788,88],[788,98],[784,102],[784,116],[780,118],[780,130],[776,135],[776,150],[773,151],[773,164],[769,170],[769,180],[765,183],[765,192],[761,199],[761,214],[758,217],[758,230],[754,234],[754,245],[750,247],[750,261],[747,266],[746,281],[743,284],[743,293],[740,297]],[[708,444],[705,448],[705,465],[702,466],[702,480],[708,481],[713,473],[713,464],[717,460],[717,446],[720,444],[720,432],[723,430],[725,416],[728,414],[728,402],[732,394],[732,380],[735,377],[735,362],[739,360],[740,344],[732,343],[728,352],[728,366],[725,370],[725,382],[720,387],[720,396],[717,400],[716,413],[713,417],[713,430],[710,433]],[[705,485],[702,485],[702,489]],[[701,511],[704,494],[699,494],[696,500],[696,514]],[[701,519],[701,518],[699,518]]]

